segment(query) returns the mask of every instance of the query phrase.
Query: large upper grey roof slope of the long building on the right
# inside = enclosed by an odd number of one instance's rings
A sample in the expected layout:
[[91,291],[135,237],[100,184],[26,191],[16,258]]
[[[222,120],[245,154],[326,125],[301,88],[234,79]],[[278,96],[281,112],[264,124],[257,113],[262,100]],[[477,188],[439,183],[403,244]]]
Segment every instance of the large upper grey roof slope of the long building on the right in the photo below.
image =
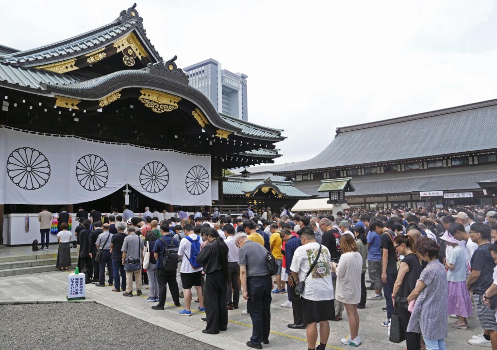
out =
[[321,153],[281,173],[497,149],[496,120],[497,100],[492,100],[339,128]]

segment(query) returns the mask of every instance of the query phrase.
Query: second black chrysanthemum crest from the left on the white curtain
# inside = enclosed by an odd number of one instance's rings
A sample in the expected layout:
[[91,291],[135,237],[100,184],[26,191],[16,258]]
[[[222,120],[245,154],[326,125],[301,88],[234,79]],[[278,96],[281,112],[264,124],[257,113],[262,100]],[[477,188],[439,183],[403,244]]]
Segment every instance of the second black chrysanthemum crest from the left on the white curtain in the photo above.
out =
[[107,183],[109,168],[101,157],[86,154],[76,164],[76,178],[85,190],[98,191]]

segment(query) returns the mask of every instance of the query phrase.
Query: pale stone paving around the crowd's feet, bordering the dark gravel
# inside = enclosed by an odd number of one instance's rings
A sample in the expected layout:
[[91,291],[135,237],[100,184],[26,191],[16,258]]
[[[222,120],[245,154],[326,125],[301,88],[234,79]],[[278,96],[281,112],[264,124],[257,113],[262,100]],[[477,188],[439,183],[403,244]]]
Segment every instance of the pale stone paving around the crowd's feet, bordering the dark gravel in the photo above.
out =
[[[67,291],[67,272],[47,272],[40,274],[21,275],[4,277],[0,279],[0,303],[17,303],[17,302],[66,302]],[[154,303],[146,301],[149,294],[144,289],[144,295],[132,298],[123,297],[121,293],[111,291],[111,287],[98,288],[93,285],[86,285],[86,296],[88,301],[95,301],[99,304],[108,306],[112,309],[121,311],[133,316],[139,320],[157,325],[175,333],[182,334],[188,338],[196,339],[202,343],[216,346],[221,349],[247,349],[245,343],[251,335],[250,317],[242,315],[242,309],[245,307],[245,301],[240,302],[240,309],[229,311],[230,323],[228,331],[220,335],[205,335],[201,330],[205,323],[201,322],[203,317],[200,312],[194,313],[191,317],[178,315],[179,308],[172,304],[172,300],[167,298],[166,309],[163,311],[152,310],[150,307]],[[267,349],[275,350],[304,350],[307,349],[305,341],[305,330],[291,330],[287,324],[292,323],[292,311],[280,307],[280,304],[286,300],[286,294],[274,295],[271,304],[271,335],[270,344],[264,346]],[[192,305],[196,306],[196,304]],[[386,319],[386,313],[381,310],[385,306],[385,301],[368,301],[366,309],[359,310],[360,328],[359,335],[362,339],[360,349],[364,350],[402,350],[405,349],[405,343],[393,344],[388,341],[387,329],[380,326],[380,323]],[[91,303],[86,306],[94,308],[95,312],[87,316],[86,323],[92,322],[93,318],[98,315],[98,305]],[[1,316],[1,315],[0,315]],[[24,315],[21,317],[25,317]],[[36,319],[36,318],[35,318]],[[35,321],[32,322],[38,322]],[[346,346],[340,343],[340,338],[349,333],[348,323],[345,321],[330,322],[331,335],[328,341],[330,349],[344,349]],[[78,321],[74,321],[77,323]],[[111,326],[111,325],[110,325]],[[11,327],[9,324],[6,328]],[[3,334],[5,328],[1,328]],[[472,335],[481,333],[481,329],[476,316],[470,318],[468,331],[454,330],[449,328],[449,337],[447,339],[447,348],[451,350],[470,349],[467,340]],[[8,334],[8,333],[7,333]],[[28,333],[25,333],[29,337]],[[0,335],[0,344],[1,344]],[[8,349],[8,348],[7,348]],[[29,349],[29,347],[27,347]],[[82,348],[83,349],[83,348]],[[85,348],[87,349],[87,348]],[[477,349],[477,348],[475,348]]]

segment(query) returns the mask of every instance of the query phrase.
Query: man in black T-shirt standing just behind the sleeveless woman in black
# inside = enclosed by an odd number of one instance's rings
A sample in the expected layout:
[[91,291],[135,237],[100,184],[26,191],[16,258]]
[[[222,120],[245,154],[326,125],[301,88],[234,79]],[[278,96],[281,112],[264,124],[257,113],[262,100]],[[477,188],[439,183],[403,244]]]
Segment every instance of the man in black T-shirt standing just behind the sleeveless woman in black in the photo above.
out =
[[381,281],[383,283],[383,294],[387,302],[387,321],[382,322],[381,326],[388,327],[388,320],[391,319],[394,313],[394,304],[392,302],[392,292],[394,283],[397,279],[397,252],[394,248],[396,223],[392,220],[383,224],[383,221],[373,218],[369,223],[369,231],[374,231],[380,234],[380,247],[382,252],[382,273]]

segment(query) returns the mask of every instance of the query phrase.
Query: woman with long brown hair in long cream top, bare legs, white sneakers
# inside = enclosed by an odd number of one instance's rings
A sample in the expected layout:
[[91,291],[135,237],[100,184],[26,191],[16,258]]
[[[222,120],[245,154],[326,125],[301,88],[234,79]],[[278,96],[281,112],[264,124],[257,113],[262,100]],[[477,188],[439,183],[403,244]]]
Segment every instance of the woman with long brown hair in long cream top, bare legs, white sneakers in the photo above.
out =
[[341,339],[342,344],[358,347],[361,345],[359,337],[359,314],[357,304],[361,301],[361,270],[362,257],[357,252],[357,244],[351,234],[343,234],[340,238],[342,254],[340,263],[331,263],[331,271],[336,272],[335,299],[343,303],[348,316],[350,335]]

